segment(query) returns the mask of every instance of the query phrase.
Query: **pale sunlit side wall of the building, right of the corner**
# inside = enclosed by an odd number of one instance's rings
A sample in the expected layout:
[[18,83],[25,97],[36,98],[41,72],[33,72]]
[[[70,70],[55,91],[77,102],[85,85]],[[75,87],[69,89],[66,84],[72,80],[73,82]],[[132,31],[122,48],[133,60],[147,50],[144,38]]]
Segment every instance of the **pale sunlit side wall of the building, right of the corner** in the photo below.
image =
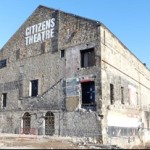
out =
[[[120,144],[123,146],[130,144],[137,144],[136,140],[127,140],[126,143],[122,140],[121,133],[117,131],[117,128],[126,128],[127,131],[130,128],[135,128],[135,131],[139,127],[139,124],[144,124],[144,128],[147,128],[146,119],[141,113],[144,111],[143,107],[148,106],[150,101],[150,72],[145,67],[145,65],[138,60],[107,28],[101,26],[101,73],[102,73],[102,112],[104,114],[104,119],[102,121],[102,133],[103,139],[107,142],[116,143],[115,135],[108,135],[109,124],[114,124],[118,134],[118,139],[120,138]],[[110,84],[114,86],[114,103],[111,104],[110,101]],[[121,103],[121,87],[123,87],[123,98],[124,104]],[[130,88],[134,90],[130,93]],[[132,91],[133,92],[133,91]],[[133,103],[130,100],[133,100]],[[126,116],[124,115],[126,111]],[[118,116],[112,115],[117,113]],[[122,119],[119,117],[122,116]],[[119,120],[117,120],[117,118]],[[128,118],[129,120],[135,120],[132,125],[129,122],[121,125],[121,122]],[[110,120],[114,123],[110,123]],[[115,125],[117,122],[118,125]],[[136,131],[138,132],[138,131]],[[139,132],[137,134],[140,134]],[[141,136],[141,135],[140,135]],[[109,137],[109,138],[108,138]],[[136,137],[138,142],[140,142],[138,135],[128,134],[128,138]],[[110,141],[108,141],[108,139]],[[118,141],[117,141],[118,142]]]

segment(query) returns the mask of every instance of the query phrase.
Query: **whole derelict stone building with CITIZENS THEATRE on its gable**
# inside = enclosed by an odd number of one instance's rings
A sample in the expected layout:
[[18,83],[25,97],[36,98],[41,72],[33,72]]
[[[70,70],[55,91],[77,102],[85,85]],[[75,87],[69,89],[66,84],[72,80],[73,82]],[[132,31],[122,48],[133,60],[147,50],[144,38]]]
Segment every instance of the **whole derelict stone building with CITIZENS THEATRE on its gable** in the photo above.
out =
[[39,6],[0,51],[1,133],[132,144],[149,93],[150,71],[105,25],[60,10]]

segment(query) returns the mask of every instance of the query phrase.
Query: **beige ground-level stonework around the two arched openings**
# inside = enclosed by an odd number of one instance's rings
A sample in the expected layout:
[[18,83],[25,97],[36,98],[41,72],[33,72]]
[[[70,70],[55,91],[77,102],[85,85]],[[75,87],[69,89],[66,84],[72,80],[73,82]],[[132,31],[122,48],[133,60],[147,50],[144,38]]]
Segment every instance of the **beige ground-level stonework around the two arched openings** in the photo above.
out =
[[[27,111],[7,111],[7,112],[1,112],[0,115],[0,132],[1,133],[14,133],[14,134],[21,134],[23,133],[23,120],[22,117]],[[28,111],[31,115],[31,126],[30,131],[31,134],[36,135],[45,135],[45,114],[47,111],[45,110],[34,110],[34,111]],[[58,111],[52,111],[54,114],[54,124],[55,124],[55,132],[54,135],[59,136],[60,135],[60,112]]]

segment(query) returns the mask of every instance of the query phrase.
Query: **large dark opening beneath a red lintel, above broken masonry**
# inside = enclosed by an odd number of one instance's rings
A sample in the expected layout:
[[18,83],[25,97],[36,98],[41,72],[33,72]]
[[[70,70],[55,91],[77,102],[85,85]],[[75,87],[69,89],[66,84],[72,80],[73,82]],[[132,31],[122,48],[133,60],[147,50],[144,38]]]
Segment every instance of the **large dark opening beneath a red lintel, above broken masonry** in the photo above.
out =
[[95,84],[91,82],[81,83],[82,87],[82,106],[95,105]]

